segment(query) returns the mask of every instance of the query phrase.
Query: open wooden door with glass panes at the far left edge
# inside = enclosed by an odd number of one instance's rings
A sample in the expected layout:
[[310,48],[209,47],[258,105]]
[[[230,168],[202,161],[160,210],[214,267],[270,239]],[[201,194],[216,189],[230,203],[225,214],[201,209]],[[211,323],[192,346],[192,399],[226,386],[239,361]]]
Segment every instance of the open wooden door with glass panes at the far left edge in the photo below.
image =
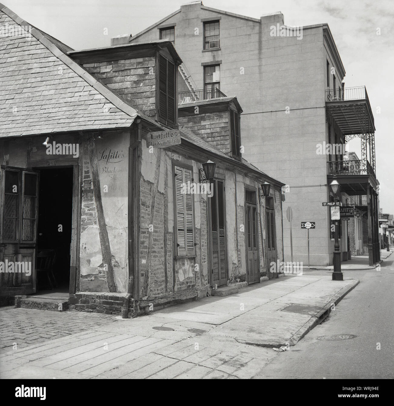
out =
[[35,293],[38,174],[0,166],[0,181],[0,294]]

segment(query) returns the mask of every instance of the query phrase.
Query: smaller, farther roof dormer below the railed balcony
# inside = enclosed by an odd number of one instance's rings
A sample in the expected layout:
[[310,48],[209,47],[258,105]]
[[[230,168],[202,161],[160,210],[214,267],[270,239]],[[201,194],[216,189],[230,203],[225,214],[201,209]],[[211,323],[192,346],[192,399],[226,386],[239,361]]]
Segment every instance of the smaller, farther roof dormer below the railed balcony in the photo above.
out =
[[[242,108],[237,98],[223,95],[209,99],[205,93],[201,95],[205,99],[199,100],[198,91],[189,93],[189,97],[182,94],[178,98],[179,124],[213,144],[219,151],[241,160]],[[191,101],[193,98],[196,100]]]

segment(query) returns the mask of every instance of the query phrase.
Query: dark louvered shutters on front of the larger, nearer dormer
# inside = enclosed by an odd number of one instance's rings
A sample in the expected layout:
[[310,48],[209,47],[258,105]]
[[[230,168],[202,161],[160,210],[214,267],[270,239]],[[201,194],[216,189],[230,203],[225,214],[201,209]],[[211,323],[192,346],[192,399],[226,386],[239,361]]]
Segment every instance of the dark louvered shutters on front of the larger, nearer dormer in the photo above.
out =
[[175,123],[175,65],[159,55],[159,118]]

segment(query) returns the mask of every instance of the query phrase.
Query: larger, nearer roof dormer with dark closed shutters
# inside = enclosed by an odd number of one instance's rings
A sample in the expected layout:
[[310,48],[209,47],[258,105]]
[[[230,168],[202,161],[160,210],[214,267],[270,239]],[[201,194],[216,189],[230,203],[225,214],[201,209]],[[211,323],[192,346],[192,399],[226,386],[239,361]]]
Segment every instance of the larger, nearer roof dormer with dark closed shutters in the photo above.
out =
[[146,115],[169,127],[177,123],[176,72],[182,60],[171,41],[71,51],[68,55]]

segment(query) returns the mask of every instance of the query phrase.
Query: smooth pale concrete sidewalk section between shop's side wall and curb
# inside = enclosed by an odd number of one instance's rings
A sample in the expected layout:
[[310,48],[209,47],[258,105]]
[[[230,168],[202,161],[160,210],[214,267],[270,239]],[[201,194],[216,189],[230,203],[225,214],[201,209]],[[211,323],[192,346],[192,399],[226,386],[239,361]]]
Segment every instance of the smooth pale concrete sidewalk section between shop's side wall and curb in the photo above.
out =
[[[207,334],[232,337],[257,346],[294,345],[357,283],[353,279],[332,281],[331,276],[326,275],[286,276],[257,287],[240,289],[231,297],[207,298],[194,307],[171,307],[147,317],[150,320],[155,317],[186,318],[202,324],[215,324],[219,328],[211,329]],[[316,312],[310,315],[283,311],[292,303],[314,306]]]

